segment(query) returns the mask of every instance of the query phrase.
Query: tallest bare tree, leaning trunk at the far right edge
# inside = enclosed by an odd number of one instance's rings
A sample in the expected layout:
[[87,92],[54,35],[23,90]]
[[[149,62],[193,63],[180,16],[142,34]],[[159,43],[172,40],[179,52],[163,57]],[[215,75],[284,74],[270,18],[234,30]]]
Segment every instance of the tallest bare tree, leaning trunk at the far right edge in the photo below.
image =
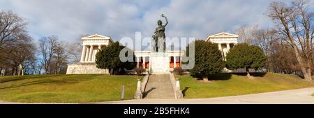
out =
[[290,6],[272,2],[267,15],[277,24],[277,32],[283,35],[297,58],[306,81],[312,81],[314,18],[310,1],[293,0]]

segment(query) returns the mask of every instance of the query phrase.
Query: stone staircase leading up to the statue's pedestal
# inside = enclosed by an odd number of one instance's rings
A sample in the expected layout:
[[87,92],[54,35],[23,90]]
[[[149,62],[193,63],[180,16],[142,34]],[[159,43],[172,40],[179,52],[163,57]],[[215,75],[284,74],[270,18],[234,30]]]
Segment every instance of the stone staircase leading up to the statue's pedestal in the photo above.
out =
[[144,99],[174,99],[169,74],[151,74],[143,93]]

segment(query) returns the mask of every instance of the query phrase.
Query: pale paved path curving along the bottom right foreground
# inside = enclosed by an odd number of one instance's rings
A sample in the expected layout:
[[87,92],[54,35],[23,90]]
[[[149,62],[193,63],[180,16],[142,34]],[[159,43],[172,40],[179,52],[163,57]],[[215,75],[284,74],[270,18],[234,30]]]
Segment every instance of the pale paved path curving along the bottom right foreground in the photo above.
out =
[[287,104],[287,103],[301,103],[314,104],[314,87],[299,89],[299,90],[285,90],[279,92],[267,92],[261,94],[248,94],[241,96],[225,96],[212,99],[142,99],[142,100],[128,100],[128,101],[112,101],[103,103],[117,103],[117,104]]

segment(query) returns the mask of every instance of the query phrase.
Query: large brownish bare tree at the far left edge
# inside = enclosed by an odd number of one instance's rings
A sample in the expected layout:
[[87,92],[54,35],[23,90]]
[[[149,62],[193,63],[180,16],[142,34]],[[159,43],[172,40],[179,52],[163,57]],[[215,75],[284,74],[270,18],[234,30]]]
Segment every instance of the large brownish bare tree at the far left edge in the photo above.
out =
[[0,12],[0,68],[10,70],[13,75],[18,65],[34,58],[36,49],[26,28],[26,23],[18,15],[10,11]]

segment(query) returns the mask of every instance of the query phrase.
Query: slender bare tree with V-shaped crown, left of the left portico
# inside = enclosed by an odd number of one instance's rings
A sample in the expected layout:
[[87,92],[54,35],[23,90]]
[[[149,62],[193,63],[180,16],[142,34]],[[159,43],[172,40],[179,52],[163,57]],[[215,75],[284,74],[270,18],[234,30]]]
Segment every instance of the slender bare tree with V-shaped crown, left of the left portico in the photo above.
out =
[[54,56],[54,53],[56,52],[57,40],[58,37],[55,35],[43,37],[39,40],[40,53],[43,56],[45,74],[50,74],[52,56]]

